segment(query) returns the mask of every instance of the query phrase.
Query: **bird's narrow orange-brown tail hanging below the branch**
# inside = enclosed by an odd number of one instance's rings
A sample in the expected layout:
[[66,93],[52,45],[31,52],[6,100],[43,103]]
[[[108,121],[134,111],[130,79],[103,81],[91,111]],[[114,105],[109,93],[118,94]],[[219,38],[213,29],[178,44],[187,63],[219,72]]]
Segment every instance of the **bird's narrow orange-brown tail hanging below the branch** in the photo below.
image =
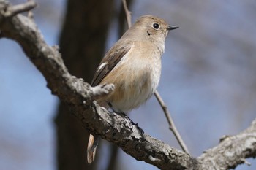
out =
[[89,142],[87,146],[87,162],[92,163],[94,161],[95,153],[97,150],[97,146],[99,144],[99,137],[94,137],[90,134]]

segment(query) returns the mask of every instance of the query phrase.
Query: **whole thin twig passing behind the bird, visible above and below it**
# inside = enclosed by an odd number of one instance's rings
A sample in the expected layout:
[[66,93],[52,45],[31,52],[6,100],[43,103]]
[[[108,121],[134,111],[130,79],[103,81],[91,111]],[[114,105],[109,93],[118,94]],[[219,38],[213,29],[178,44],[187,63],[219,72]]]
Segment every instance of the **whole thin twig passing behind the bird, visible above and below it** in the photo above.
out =
[[[126,0],[122,0],[122,1],[123,1],[123,5],[124,5],[124,11],[127,15],[127,24],[128,24],[128,27],[130,28],[132,26],[131,12],[129,12],[129,9],[127,7],[127,1]],[[187,149],[186,144],[182,140],[181,135],[178,133],[178,130],[176,129],[176,126],[173,123],[173,119],[172,119],[172,117],[170,117],[170,112],[168,111],[168,109],[165,105],[165,102],[162,100],[162,98],[159,95],[157,90],[154,92],[154,96],[156,96],[157,101],[159,102],[160,106],[162,107],[163,112],[165,113],[165,117],[167,119],[167,122],[169,123],[170,131],[173,132],[174,136],[176,137],[176,139],[178,141],[178,144],[180,144],[180,146],[181,146],[181,149],[184,152],[187,152],[189,154],[189,150]]]

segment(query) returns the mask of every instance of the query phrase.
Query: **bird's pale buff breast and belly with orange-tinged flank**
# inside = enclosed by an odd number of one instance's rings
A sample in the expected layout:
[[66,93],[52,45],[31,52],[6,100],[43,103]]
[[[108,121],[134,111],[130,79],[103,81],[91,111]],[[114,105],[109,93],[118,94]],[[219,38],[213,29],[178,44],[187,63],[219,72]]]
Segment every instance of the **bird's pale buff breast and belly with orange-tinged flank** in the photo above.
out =
[[115,85],[115,90],[106,99],[121,112],[144,104],[157,89],[161,74],[161,53],[148,49],[132,52],[124,55],[102,81]]

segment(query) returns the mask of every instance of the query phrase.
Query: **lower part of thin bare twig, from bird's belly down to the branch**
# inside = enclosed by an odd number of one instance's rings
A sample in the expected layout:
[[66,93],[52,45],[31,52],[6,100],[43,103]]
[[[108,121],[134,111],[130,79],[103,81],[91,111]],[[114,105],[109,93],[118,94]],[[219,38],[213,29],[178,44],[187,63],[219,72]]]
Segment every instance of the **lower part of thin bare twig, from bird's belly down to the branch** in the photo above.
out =
[[162,111],[165,113],[165,117],[167,119],[167,122],[169,123],[170,131],[173,132],[173,134],[176,137],[178,144],[180,144],[182,150],[189,154],[189,150],[187,149],[186,144],[182,140],[181,135],[178,133],[178,130],[177,130],[176,126],[174,125],[173,119],[172,119],[172,117],[170,117],[170,112],[169,112],[168,108],[166,107],[165,102],[162,100],[162,98],[159,95],[157,90],[154,92],[154,96],[156,96],[157,101],[159,102],[160,106],[162,107]]

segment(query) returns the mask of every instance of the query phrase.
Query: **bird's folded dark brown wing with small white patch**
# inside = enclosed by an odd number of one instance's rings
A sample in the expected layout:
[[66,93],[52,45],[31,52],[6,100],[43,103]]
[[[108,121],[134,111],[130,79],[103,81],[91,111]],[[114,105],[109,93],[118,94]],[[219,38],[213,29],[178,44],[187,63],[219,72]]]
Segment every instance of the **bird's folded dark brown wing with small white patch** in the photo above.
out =
[[126,55],[132,48],[133,43],[117,43],[113,46],[102,59],[91,81],[91,86],[99,85],[99,83],[111,72],[111,70],[121,61],[121,58]]

